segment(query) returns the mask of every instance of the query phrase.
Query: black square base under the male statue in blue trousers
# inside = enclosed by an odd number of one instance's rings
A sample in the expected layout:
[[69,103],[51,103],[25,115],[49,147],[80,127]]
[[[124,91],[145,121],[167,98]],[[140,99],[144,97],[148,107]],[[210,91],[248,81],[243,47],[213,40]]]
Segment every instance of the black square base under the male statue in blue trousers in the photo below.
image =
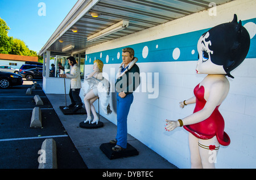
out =
[[123,149],[122,151],[113,151],[112,148],[114,146],[115,146],[115,144],[110,144],[110,143],[104,143],[104,144],[100,145],[101,151],[104,152],[105,155],[110,160],[113,160],[115,158],[139,155],[139,152],[137,151],[137,149],[135,149],[129,143],[127,143],[127,148]]

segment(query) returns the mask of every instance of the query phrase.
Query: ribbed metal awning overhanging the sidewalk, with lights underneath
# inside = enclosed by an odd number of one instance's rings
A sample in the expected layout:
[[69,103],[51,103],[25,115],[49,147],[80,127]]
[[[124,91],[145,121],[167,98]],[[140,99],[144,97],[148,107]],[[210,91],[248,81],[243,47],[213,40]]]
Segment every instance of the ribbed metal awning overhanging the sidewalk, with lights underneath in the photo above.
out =
[[[79,52],[115,38],[206,10],[210,8],[210,3],[221,5],[229,1],[232,0],[79,0],[39,54],[42,55],[46,50],[50,50],[53,54]],[[91,12],[96,12],[99,16],[93,18]],[[98,40],[88,41],[88,36],[122,20],[129,21],[127,28]],[[72,46],[73,49],[63,52],[63,48],[67,46]]]

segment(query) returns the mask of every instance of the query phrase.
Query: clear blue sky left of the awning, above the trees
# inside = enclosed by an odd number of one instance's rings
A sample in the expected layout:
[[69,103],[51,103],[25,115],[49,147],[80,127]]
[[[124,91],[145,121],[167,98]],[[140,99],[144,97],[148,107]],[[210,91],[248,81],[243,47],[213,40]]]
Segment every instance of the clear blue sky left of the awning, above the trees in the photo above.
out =
[[[39,16],[39,3],[46,5],[46,16]],[[10,27],[8,36],[23,40],[39,53],[77,0],[0,0],[0,18]],[[42,11],[41,11],[42,12]]]

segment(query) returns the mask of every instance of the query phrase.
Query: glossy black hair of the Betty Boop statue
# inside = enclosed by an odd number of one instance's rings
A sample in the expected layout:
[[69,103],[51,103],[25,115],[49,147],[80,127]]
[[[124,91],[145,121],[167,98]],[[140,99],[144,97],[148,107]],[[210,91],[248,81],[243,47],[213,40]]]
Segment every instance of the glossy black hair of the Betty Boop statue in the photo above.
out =
[[216,65],[222,65],[226,75],[234,78],[230,75],[230,71],[239,66],[246,58],[250,48],[249,33],[242,26],[241,20],[239,23],[237,22],[236,14],[234,14],[232,22],[217,25],[208,32],[209,37],[205,41],[212,42],[209,45],[209,49],[213,51],[213,54],[210,55],[211,61]]

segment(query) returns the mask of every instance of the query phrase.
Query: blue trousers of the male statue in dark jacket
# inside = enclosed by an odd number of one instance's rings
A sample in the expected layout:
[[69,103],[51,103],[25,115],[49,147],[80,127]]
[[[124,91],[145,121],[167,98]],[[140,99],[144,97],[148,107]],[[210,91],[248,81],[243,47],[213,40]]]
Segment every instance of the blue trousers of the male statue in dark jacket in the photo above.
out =
[[117,93],[117,145],[122,148],[127,146],[127,116],[129,114],[131,103],[133,103],[133,94],[126,95],[124,98]]

